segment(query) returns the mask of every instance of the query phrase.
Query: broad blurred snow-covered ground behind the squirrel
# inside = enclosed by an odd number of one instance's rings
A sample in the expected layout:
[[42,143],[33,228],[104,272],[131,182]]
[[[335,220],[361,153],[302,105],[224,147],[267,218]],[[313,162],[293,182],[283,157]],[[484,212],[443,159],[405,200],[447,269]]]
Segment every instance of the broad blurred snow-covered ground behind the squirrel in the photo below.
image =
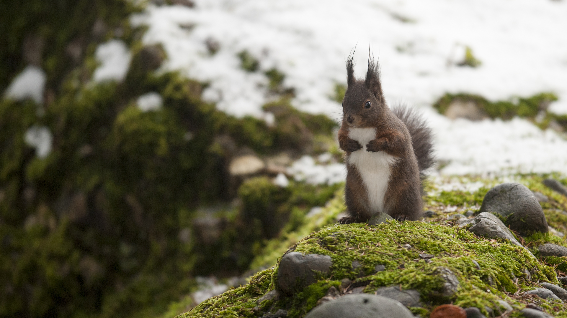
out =
[[[430,105],[446,92],[490,100],[555,92],[567,113],[567,2],[551,0],[198,0],[195,8],[149,6],[146,43],[162,43],[164,70],[181,70],[210,86],[204,96],[227,113],[262,117],[269,98],[263,71],[277,67],[295,88],[297,108],[337,118],[336,83],[356,46],[356,71],[368,50],[379,58],[391,105],[422,108],[437,135],[445,174],[567,173],[567,141],[522,119],[450,121]],[[206,42],[218,42],[210,54]],[[456,66],[468,46],[482,65]],[[247,50],[260,70],[240,68]],[[323,178],[324,179],[324,178]]]

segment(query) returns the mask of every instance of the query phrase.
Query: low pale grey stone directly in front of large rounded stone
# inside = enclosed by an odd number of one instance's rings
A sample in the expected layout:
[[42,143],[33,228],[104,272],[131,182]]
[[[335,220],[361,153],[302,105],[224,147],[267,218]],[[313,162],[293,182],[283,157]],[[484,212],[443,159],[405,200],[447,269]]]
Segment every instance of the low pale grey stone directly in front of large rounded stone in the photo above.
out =
[[485,238],[503,238],[509,240],[512,244],[522,246],[522,244],[514,238],[514,235],[512,235],[506,225],[492,213],[483,212],[474,218],[459,220],[459,227],[464,227],[469,224],[472,224],[472,226],[469,227],[468,230],[476,235]]

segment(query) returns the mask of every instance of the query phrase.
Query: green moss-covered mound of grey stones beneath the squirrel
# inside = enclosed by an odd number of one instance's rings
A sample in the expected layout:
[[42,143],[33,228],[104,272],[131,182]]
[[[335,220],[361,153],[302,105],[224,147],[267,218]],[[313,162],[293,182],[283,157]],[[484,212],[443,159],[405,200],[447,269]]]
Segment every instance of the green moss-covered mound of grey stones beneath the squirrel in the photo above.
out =
[[[455,299],[455,296],[459,295],[462,289],[467,288],[467,284],[464,283],[467,280],[464,274],[466,272],[451,265],[451,263],[445,265],[445,263],[439,262],[442,257],[455,256],[439,253],[439,250],[430,248],[428,244],[422,244],[422,242],[435,242],[437,240],[442,245],[441,242],[447,242],[447,240],[461,239],[466,242],[465,244],[471,243],[473,240],[476,242],[475,244],[486,244],[481,248],[483,251],[490,248],[504,248],[507,254],[500,254],[500,257],[507,255],[506,257],[510,257],[509,261],[517,262],[515,263],[514,273],[510,274],[509,277],[506,276],[507,273],[503,272],[496,275],[486,274],[490,271],[496,270],[498,272],[500,270],[501,259],[498,258],[496,250],[485,253],[490,253],[490,259],[493,261],[496,258],[497,264],[490,263],[491,261],[486,255],[475,253],[477,255],[475,257],[478,257],[476,260],[467,259],[465,261],[465,263],[470,263],[466,271],[478,270],[479,277],[489,288],[496,287],[498,290],[509,291],[509,287],[505,286],[506,280],[509,280],[510,285],[513,285],[511,288],[517,288],[521,286],[518,283],[518,279],[521,279],[527,282],[528,286],[534,286],[532,282],[537,282],[540,288],[524,293],[519,290],[519,295],[534,295],[552,303],[567,300],[567,290],[563,289],[561,284],[554,285],[545,282],[553,281],[555,278],[541,276],[541,271],[538,269],[540,262],[538,263],[536,257],[519,242],[519,236],[516,237],[510,230],[512,229],[520,235],[547,231],[547,221],[545,221],[543,210],[533,192],[517,183],[500,184],[488,191],[480,212],[476,216],[473,216],[473,214],[474,212],[470,210],[464,214],[454,214],[447,218],[452,220],[452,222],[447,222],[450,227],[438,227],[435,230],[431,225],[426,224],[386,222],[390,220],[387,214],[379,214],[377,218],[369,222],[369,225],[349,225],[348,228],[339,225],[322,229],[312,234],[308,240],[299,242],[293,250],[286,252],[281,258],[277,269],[277,280],[274,281],[277,283],[276,290],[269,291],[258,300],[259,306],[265,307],[261,309],[258,307],[259,309],[256,312],[263,318],[286,317],[288,314],[287,307],[285,307],[286,310],[274,307],[278,306],[278,299],[292,297],[296,292],[302,291],[310,285],[318,286],[315,283],[331,282],[334,285],[330,287],[323,285],[325,286],[324,293],[318,291],[319,299],[315,307],[308,307],[311,310],[307,312],[305,317],[405,318],[413,317],[408,308],[422,307],[424,304],[431,303],[441,303],[441,305],[433,306],[430,318],[486,318],[486,316],[518,314],[524,317],[552,317],[545,313],[543,308],[535,304],[519,310],[517,307],[511,307],[504,300],[493,300],[493,305],[487,303],[479,305],[479,308],[463,308],[454,304],[443,304],[443,302],[446,303],[447,299]],[[435,213],[431,211],[426,215],[433,217]],[[440,220],[443,220],[443,218]],[[476,237],[464,232],[466,234],[459,238],[463,231],[457,230],[455,225],[461,229],[467,229]],[[443,232],[445,230],[441,230],[441,228],[452,229],[454,232],[451,232],[450,237],[438,236],[443,235],[442,233],[448,234]],[[416,239],[417,231],[420,229],[425,230],[425,232],[420,234],[422,235],[420,239]],[[389,232],[386,233],[386,231]],[[411,236],[405,237],[399,233],[411,233]],[[369,236],[363,238],[363,235]],[[512,245],[496,243],[493,239],[507,240]],[[364,249],[362,246],[364,246]],[[526,248],[528,253],[518,252],[520,250],[517,247]],[[459,248],[471,247],[462,245]],[[456,251],[459,248],[453,249],[451,253],[458,253]],[[567,256],[567,248],[556,244],[545,243],[532,248],[536,250],[538,257]],[[356,253],[350,252],[351,250]],[[331,256],[298,251],[328,251],[328,255]],[[366,258],[365,255],[369,255],[369,253],[374,253],[374,256]],[[411,254],[411,257],[404,256],[408,253]],[[383,257],[376,257],[378,255]],[[467,256],[470,255],[467,254]],[[345,259],[342,257],[345,257]],[[403,259],[402,257],[406,257],[406,259],[400,261]],[[390,260],[395,261],[392,264]],[[416,268],[416,264],[420,265]],[[518,268],[520,269],[518,270]],[[408,269],[414,270],[414,272],[407,272]],[[416,269],[417,271],[415,271]],[[420,273],[422,269],[427,273],[425,279],[430,278],[431,282],[437,284],[437,290],[428,290],[428,293],[423,293],[420,287],[412,286],[411,288],[416,289],[402,289],[402,284],[395,283],[396,285],[393,285],[392,281],[388,282],[388,275],[401,273],[403,275],[412,273],[416,277],[421,275],[421,279],[424,279],[423,274]],[[333,278],[333,276],[336,278]],[[560,281],[567,283],[567,278]],[[338,285],[338,282],[340,282],[340,285]],[[374,291],[374,295],[370,294],[369,290]],[[509,292],[516,293],[516,291],[517,289],[514,289]],[[529,299],[529,296],[527,297]],[[265,300],[271,301],[269,306],[266,305],[268,303]],[[541,301],[544,302],[544,300]],[[534,302],[537,303],[536,300]],[[485,316],[483,312],[488,312],[488,315]]]

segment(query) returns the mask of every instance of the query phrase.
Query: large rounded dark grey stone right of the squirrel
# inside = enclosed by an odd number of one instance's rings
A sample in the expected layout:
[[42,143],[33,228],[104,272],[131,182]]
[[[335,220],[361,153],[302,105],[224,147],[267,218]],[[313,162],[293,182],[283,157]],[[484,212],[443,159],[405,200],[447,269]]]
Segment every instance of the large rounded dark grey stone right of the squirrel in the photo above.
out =
[[547,221],[538,199],[520,183],[502,183],[484,196],[480,212],[494,212],[506,217],[506,225],[520,235],[547,233]]

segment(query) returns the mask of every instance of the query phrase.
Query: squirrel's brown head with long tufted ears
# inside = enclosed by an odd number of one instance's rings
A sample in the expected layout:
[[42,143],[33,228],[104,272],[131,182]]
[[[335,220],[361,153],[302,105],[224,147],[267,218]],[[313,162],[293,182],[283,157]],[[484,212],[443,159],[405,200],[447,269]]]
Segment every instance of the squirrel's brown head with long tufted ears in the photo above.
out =
[[342,101],[342,120],[350,127],[376,127],[376,120],[387,108],[380,85],[379,66],[368,58],[365,80],[354,78],[354,53],[346,61],[348,88]]

